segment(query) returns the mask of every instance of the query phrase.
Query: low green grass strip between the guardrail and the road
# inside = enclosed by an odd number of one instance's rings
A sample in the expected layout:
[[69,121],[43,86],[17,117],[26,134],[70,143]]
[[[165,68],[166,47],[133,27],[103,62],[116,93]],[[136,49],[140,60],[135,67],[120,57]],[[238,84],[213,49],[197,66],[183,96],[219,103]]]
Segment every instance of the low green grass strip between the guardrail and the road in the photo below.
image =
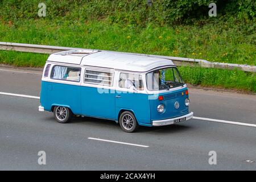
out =
[[[16,51],[0,51],[0,63],[16,67],[42,68],[48,55]],[[179,67],[183,80],[192,85],[213,86],[256,93],[255,73],[200,67]]]

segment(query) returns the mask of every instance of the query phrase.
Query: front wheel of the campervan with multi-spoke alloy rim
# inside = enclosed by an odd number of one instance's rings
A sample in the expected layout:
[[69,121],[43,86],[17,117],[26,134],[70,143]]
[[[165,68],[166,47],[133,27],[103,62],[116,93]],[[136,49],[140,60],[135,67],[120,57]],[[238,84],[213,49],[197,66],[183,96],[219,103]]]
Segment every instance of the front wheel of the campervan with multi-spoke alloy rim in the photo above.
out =
[[125,132],[134,132],[138,129],[139,125],[133,113],[124,111],[119,117],[119,125]]

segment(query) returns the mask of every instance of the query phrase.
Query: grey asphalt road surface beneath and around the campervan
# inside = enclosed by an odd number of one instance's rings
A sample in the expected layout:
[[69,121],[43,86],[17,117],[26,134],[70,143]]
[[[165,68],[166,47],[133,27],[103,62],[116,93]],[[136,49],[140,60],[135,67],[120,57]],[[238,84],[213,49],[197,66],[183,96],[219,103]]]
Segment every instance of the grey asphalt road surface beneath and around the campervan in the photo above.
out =
[[[0,68],[0,92],[39,96],[40,77],[38,71]],[[189,93],[196,117],[256,124],[256,96],[201,89]],[[79,117],[60,124],[52,113],[39,113],[38,105],[36,99],[0,94],[1,170],[256,169],[253,126],[191,119],[129,134],[102,119]],[[38,164],[39,151],[46,152],[46,165]],[[208,163],[209,151],[216,151],[216,165]]]

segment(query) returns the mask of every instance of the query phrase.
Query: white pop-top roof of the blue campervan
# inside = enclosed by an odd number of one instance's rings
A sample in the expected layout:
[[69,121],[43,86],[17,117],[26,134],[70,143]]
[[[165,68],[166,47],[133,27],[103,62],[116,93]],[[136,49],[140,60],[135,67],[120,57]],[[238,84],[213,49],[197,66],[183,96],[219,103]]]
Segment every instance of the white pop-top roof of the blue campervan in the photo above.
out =
[[138,56],[130,53],[87,51],[82,49],[53,53],[49,56],[48,61],[135,72],[147,72],[156,67],[174,65],[171,60],[167,59]]

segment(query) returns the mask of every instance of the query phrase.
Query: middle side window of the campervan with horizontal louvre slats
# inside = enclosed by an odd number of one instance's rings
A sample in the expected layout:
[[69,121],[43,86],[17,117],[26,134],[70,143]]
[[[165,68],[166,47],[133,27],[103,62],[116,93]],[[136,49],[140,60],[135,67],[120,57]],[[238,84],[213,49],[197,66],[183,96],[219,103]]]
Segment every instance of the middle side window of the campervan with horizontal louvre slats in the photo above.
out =
[[97,85],[113,86],[114,72],[85,69],[84,82]]

